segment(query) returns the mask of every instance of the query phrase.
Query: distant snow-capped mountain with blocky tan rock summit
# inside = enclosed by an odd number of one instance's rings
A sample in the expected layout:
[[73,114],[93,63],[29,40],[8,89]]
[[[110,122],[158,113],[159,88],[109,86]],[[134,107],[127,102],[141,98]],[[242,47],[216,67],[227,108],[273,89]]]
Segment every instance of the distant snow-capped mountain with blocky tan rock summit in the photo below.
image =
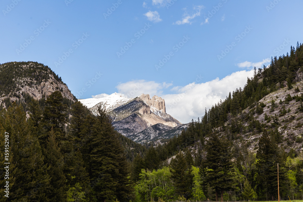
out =
[[[104,105],[106,112],[113,120],[115,129],[140,143],[154,140],[155,136],[161,138],[158,134],[163,134],[181,125],[178,120],[166,113],[165,101],[158,96],[150,98],[148,94],[141,94],[137,98],[125,98],[114,93],[105,98],[89,98],[79,101],[95,115],[98,115],[98,106]],[[157,135],[142,138],[141,132],[156,124],[164,127],[154,127],[151,131]],[[136,136],[137,134],[140,138]],[[178,132],[173,135],[178,135]]]

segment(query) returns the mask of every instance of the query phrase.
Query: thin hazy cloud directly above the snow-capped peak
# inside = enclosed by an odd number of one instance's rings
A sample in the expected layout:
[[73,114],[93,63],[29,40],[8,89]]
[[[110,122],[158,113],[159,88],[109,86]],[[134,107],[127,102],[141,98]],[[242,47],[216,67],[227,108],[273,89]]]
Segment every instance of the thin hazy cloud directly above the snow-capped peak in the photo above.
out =
[[120,83],[116,86],[118,93],[128,98],[135,98],[140,94],[149,94],[151,96],[161,95],[162,90],[172,86],[172,83],[157,83],[155,81],[134,80],[126,83]]

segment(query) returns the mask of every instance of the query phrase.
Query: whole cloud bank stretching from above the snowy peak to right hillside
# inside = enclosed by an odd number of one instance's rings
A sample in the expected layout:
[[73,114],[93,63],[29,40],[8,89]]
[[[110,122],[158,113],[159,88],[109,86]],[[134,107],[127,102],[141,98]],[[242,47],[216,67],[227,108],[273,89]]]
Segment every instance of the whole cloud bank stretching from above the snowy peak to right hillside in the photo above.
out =
[[[156,81],[134,80],[120,83],[116,86],[118,93],[124,97],[135,98],[140,94],[161,96],[165,100],[166,112],[182,123],[191,119],[197,120],[207,110],[220,100],[225,100],[229,92],[236,88],[243,88],[247,77],[253,76],[253,70],[237,71],[225,78],[216,78],[205,83],[196,81],[185,86],[172,86],[172,83],[158,83]],[[163,90],[170,90],[171,94],[164,94]]]

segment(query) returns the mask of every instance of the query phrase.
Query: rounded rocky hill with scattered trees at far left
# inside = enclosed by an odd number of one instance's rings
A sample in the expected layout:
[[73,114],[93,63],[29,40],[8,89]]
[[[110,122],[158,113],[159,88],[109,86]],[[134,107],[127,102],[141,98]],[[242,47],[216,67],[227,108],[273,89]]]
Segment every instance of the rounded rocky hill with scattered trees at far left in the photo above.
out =
[[[24,100],[25,95],[35,99],[60,91],[63,98],[76,98],[48,66],[37,62],[9,62],[0,65],[0,102]],[[4,101],[5,100],[5,101]]]

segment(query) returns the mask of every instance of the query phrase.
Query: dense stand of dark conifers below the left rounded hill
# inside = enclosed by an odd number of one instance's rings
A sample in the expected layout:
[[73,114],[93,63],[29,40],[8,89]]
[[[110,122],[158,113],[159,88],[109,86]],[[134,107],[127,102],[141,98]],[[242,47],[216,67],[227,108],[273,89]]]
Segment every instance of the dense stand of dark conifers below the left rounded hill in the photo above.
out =
[[[1,110],[2,140],[9,134],[8,161],[4,161],[4,141],[0,146],[2,164],[10,162],[9,200],[132,198],[129,162],[146,147],[118,134],[101,108],[95,117],[78,101],[70,101],[68,107],[60,91],[43,99],[14,102]],[[4,177],[0,184],[4,193]]]

